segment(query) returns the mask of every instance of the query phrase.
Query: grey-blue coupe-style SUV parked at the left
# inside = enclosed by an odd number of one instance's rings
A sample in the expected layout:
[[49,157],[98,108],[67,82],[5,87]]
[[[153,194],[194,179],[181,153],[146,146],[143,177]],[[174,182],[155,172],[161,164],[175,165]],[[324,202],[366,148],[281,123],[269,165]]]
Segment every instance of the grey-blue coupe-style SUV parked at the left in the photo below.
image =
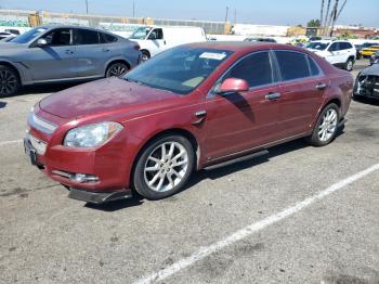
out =
[[77,26],[41,26],[0,44],[0,95],[26,85],[121,76],[141,60],[135,42]]

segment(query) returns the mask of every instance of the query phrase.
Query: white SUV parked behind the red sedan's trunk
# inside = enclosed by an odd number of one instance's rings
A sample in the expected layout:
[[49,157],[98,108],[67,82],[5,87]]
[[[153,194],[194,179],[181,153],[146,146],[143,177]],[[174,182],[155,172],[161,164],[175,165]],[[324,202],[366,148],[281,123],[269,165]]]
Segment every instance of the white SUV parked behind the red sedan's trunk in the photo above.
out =
[[345,70],[352,70],[356,50],[348,40],[317,40],[309,42],[305,48],[324,57],[330,64]]

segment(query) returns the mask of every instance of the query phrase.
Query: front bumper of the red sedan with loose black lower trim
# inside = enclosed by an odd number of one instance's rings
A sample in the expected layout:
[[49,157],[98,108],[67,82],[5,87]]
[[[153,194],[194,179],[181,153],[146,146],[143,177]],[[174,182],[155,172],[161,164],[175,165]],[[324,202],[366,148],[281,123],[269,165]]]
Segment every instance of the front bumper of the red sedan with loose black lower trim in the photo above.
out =
[[[69,189],[68,197],[93,204],[132,197],[132,191],[127,186],[125,170],[120,170],[119,167],[116,170],[114,167],[118,165],[115,155],[106,157],[106,153],[101,152],[101,155],[96,157],[95,151],[69,151],[63,146],[50,149],[48,146],[45,154],[41,155],[40,150],[36,149],[31,142],[31,140],[34,142],[39,140],[35,138],[35,134],[36,132],[31,131],[24,139],[25,154],[32,166]],[[42,140],[41,143],[43,143]],[[101,167],[97,168],[96,165]],[[99,177],[99,179],[80,182],[76,180],[76,173]]]

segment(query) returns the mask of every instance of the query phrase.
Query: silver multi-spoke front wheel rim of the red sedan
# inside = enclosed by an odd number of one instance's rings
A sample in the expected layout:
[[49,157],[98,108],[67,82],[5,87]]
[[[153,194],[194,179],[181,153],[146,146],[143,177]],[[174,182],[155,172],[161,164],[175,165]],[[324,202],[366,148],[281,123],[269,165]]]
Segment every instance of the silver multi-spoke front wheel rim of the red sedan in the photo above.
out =
[[155,192],[167,192],[178,185],[188,169],[188,153],[178,142],[165,142],[148,156],[144,178]]

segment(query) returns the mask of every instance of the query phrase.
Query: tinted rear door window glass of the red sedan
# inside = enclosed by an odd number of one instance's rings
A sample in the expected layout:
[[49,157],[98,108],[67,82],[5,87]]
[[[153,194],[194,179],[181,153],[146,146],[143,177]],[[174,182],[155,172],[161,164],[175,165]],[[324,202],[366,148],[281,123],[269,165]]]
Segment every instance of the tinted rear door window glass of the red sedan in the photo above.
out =
[[311,76],[305,54],[291,51],[275,51],[275,54],[284,81]]

